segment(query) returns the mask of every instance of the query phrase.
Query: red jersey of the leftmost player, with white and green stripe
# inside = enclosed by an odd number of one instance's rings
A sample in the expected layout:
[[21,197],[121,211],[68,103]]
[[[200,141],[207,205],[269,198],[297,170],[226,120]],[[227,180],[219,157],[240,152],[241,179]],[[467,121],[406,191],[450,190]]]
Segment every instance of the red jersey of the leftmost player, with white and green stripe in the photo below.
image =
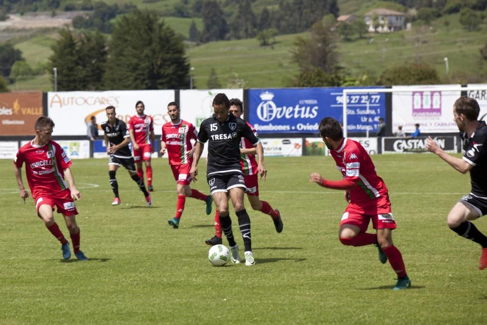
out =
[[37,146],[33,141],[23,145],[14,159],[18,168],[25,163],[25,175],[32,196],[36,198],[68,189],[64,170],[71,166],[71,160],[64,150],[52,140],[44,146]]

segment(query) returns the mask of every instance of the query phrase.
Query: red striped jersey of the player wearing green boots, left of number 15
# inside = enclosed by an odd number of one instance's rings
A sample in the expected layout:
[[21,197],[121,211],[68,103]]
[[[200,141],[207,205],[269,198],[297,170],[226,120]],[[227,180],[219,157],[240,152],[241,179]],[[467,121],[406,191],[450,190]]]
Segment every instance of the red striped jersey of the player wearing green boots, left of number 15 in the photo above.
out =
[[191,123],[181,120],[178,124],[168,122],[162,126],[161,141],[166,142],[170,165],[191,164],[187,151],[193,148],[191,139],[196,140],[198,131]]

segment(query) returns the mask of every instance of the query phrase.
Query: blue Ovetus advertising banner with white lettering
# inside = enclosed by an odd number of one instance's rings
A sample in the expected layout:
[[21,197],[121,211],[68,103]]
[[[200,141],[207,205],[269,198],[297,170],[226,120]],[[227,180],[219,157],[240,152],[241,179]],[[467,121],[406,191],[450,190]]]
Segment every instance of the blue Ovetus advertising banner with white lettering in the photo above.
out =
[[[330,116],[343,122],[343,89],[250,89],[249,123],[260,134],[318,133],[323,117]],[[347,97],[348,132],[376,132],[378,118],[386,115],[385,94],[351,94]]]

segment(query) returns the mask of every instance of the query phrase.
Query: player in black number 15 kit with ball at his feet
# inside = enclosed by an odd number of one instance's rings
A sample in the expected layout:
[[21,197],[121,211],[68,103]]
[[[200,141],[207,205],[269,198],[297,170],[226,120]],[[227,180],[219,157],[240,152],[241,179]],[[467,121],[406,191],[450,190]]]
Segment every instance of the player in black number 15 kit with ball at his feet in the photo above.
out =
[[247,123],[233,114],[228,114],[230,101],[225,94],[217,94],[213,99],[212,117],[201,123],[198,141],[196,142],[194,160],[189,171],[191,179],[196,181],[198,161],[203,152],[204,143],[208,141],[208,163],[206,180],[210,186],[211,196],[220,211],[220,223],[230,245],[233,263],[240,263],[237,243],[233,238],[232,220],[228,211],[228,196],[232,200],[233,210],[239,219],[239,228],[244,239],[245,265],[255,264],[250,236],[250,217],[244,207],[246,190],[244,173],[240,166],[240,141],[247,138],[254,146],[259,157],[257,172],[265,178],[264,150],[259,139]]

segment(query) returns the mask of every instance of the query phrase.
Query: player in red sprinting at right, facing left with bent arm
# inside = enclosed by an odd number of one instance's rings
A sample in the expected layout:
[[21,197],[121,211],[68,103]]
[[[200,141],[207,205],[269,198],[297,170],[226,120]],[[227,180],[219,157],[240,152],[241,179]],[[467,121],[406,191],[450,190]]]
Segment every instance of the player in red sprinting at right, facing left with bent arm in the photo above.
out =
[[[344,138],[340,123],[332,117],[321,120],[319,134],[335,159],[343,179],[326,180],[313,172],[310,182],[328,189],[345,191],[345,200],[349,204],[341,217],[340,242],[351,246],[376,244],[380,262],[384,264],[389,260],[397,274],[397,283],[393,290],[411,287],[401,252],[393,245],[392,230],[396,228],[396,224],[387,187],[375,172],[369,154],[360,143]],[[371,220],[377,230],[376,234],[366,232]]]

